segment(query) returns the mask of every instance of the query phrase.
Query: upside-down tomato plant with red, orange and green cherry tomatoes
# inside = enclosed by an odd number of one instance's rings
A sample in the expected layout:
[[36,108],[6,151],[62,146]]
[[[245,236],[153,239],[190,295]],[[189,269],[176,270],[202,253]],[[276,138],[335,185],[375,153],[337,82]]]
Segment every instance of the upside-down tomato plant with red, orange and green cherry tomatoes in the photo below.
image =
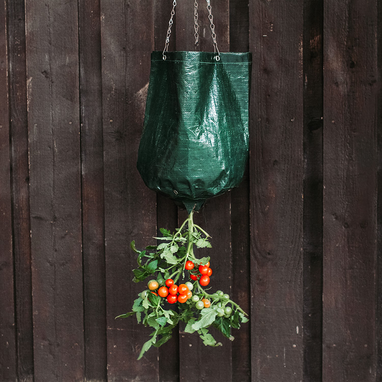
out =
[[[134,241],[131,242],[132,250],[138,254],[133,281],[145,281],[147,288],[135,299],[131,312],[116,318],[135,315],[139,323],[153,328],[138,359],[151,346],[159,347],[167,342],[179,321],[186,323],[186,333],[197,332],[209,346],[222,345],[208,332],[210,326],[233,340],[231,328],[239,329],[241,323],[248,321],[247,313],[227,293],[221,290],[208,293],[203,289],[209,285],[212,275],[210,258],[198,259],[194,245],[211,248],[210,236],[194,223],[193,214],[192,211],[175,233],[161,228],[163,236],[155,238],[162,242],[157,246],[149,245],[144,251],[138,251]],[[174,306],[178,309],[174,310]]]

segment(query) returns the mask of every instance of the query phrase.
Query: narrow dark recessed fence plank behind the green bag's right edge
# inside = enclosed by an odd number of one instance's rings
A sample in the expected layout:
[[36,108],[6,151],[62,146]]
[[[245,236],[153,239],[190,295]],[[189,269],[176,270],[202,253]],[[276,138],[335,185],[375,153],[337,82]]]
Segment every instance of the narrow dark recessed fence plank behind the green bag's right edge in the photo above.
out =
[[[230,51],[249,51],[249,0],[230,1]],[[250,313],[250,185],[249,168],[242,183],[231,191],[232,295]],[[234,331],[232,380],[251,380],[251,324]]]

